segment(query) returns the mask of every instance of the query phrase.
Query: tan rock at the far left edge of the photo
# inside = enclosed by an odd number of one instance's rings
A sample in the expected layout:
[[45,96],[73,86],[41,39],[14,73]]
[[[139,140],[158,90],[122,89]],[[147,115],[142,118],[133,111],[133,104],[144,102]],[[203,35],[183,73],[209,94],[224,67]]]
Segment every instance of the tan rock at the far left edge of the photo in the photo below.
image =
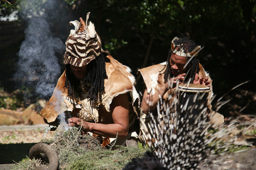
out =
[[15,125],[21,123],[24,123],[24,120],[19,112],[9,109],[0,110],[0,125]]

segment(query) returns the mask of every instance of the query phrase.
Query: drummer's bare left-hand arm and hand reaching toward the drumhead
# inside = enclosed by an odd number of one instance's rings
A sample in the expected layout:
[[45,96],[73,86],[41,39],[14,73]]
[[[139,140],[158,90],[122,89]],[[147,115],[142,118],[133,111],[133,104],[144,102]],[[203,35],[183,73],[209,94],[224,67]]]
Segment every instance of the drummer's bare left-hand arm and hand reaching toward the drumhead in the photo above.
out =
[[[173,81],[173,87],[174,88],[176,86],[177,80],[184,80],[184,76],[186,74],[180,74],[179,76],[175,77],[175,78],[171,78],[170,82],[172,83]],[[181,83],[181,81],[179,82]],[[156,92],[155,94],[152,95],[152,92],[150,92],[148,94],[147,89],[145,89],[144,93],[143,93],[143,98],[141,101],[141,105],[140,107],[142,108],[143,112],[145,114],[148,113],[149,110],[153,110],[156,108],[157,102],[160,100],[160,98],[162,98],[164,96],[164,94],[170,89],[169,84],[166,83],[164,86],[161,87],[161,89],[158,90],[158,92]]]

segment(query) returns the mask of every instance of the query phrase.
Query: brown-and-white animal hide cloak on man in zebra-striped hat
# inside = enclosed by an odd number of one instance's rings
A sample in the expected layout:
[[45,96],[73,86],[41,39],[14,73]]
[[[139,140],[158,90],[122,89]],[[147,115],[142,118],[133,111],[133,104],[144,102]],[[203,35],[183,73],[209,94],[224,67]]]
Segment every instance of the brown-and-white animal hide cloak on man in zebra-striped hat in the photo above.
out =
[[134,87],[135,78],[131,74],[129,67],[119,63],[111,55],[107,56],[107,60],[109,60],[106,62],[108,78],[104,80],[105,94],[102,95],[102,102],[91,103],[87,99],[88,92],[79,94],[78,98],[71,98],[68,95],[68,89],[64,87],[66,80],[65,70],[58,80],[52,97],[40,113],[47,123],[54,122],[58,115],[65,111],[72,112],[75,108],[84,108],[91,111],[96,123],[113,123],[111,116],[102,113],[110,112],[110,104],[116,96],[129,93],[131,97],[129,100],[129,132],[132,129],[134,131],[137,129],[132,126],[135,119],[139,119],[142,109],[140,108],[139,94]]

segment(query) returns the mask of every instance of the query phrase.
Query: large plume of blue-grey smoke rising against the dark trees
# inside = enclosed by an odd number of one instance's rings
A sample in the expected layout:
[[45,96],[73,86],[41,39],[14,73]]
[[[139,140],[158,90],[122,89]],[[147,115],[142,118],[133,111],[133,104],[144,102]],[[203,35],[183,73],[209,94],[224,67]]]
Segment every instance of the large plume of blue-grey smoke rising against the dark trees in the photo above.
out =
[[54,13],[57,4],[53,0],[30,0],[20,5],[23,9],[20,16],[27,21],[28,27],[25,40],[20,45],[14,77],[23,86],[34,89],[39,97],[50,97],[60,76],[56,54],[65,48],[64,43],[50,31],[49,19],[52,21],[58,17]]

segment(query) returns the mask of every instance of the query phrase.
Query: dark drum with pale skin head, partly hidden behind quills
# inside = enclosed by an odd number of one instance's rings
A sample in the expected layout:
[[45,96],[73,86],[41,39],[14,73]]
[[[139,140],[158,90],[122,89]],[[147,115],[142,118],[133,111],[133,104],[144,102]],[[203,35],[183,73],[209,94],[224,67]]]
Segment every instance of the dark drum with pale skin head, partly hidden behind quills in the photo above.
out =
[[180,84],[178,92],[177,117],[192,123],[197,115],[206,115],[210,87],[199,84]]

